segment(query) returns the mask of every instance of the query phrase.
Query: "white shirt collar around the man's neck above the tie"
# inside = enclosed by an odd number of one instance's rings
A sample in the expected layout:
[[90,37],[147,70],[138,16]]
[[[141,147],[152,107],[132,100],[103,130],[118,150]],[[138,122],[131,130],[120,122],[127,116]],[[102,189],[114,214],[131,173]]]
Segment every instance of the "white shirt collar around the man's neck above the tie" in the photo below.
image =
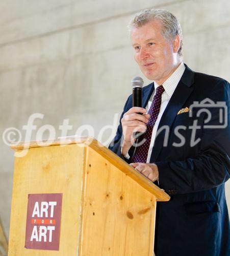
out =
[[[183,62],[178,66],[178,68],[163,82],[162,86],[165,89],[165,92],[171,98],[173,92],[176,89],[178,82],[180,81],[183,73],[185,71],[185,65]],[[155,90],[159,87],[159,84],[154,82]]]

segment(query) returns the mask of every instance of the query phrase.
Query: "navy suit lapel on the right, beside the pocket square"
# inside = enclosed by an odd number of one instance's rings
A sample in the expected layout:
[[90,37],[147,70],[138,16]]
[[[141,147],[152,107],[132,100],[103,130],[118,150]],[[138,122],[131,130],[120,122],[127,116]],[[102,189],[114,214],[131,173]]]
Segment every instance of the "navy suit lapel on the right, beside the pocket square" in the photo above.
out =
[[[169,127],[169,131],[170,131],[170,126],[172,125],[172,122],[175,119],[177,112],[180,111],[180,109],[182,109],[184,103],[186,102],[189,95],[193,91],[193,87],[192,87],[193,83],[194,83],[194,72],[186,66],[185,72],[180,82],[178,83],[164,111],[164,114],[158,126],[158,131],[161,128],[163,129],[163,126]],[[155,162],[162,150],[164,138],[165,138],[165,131],[166,130],[163,129],[155,139],[155,144],[154,144],[154,147],[152,148],[150,162]]]

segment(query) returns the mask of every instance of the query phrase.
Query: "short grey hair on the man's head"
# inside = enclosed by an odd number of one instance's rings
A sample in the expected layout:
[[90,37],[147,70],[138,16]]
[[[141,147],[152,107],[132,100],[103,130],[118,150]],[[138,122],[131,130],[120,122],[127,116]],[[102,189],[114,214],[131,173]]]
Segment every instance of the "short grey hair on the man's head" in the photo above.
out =
[[175,15],[167,10],[146,9],[135,14],[130,24],[127,26],[130,32],[133,28],[140,28],[143,25],[158,19],[162,24],[162,35],[166,40],[173,40],[176,35],[181,38],[181,45],[178,55],[183,55],[183,35],[181,25]]

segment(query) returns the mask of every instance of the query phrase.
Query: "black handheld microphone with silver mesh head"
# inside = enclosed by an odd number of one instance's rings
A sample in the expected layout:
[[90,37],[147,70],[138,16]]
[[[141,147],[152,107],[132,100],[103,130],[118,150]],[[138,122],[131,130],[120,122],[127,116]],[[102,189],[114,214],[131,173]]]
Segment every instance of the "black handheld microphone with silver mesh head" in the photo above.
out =
[[142,87],[144,81],[141,77],[136,76],[132,79],[131,85],[133,87],[133,106],[142,108]]

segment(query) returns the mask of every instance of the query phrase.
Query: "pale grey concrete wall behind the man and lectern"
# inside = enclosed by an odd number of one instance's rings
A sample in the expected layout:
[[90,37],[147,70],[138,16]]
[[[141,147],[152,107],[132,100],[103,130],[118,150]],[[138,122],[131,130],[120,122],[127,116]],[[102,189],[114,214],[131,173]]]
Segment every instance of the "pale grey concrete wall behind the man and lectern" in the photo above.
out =
[[[69,119],[73,129],[68,135],[89,124],[94,137],[100,137],[101,129],[122,112],[131,79],[143,77],[126,25],[145,8],[177,16],[190,68],[230,80],[228,0],[2,0],[0,133],[16,127],[24,140],[22,126],[31,114],[42,113],[44,118],[35,121],[37,130],[50,124],[58,137],[59,125]],[[107,144],[111,132],[100,141]],[[35,136],[36,131],[31,139]],[[0,218],[9,234],[14,153],[2,138],[0,150]],[[229,182],[226,196],[229,206]]]

